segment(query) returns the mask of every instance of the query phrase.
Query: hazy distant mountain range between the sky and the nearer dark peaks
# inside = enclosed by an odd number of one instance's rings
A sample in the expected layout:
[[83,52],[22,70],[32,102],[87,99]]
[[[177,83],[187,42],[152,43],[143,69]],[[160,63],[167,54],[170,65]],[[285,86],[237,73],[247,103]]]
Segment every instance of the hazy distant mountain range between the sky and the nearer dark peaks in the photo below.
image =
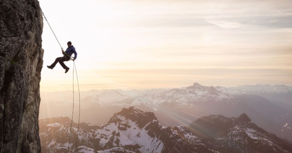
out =
[[[240,87],[213,87],[194,83],[189,87],[169,90],[91,90],[81,93],[81,121],[105,124],[114,112],[129,106],[136,106],[143,111],[154,111],[162,126],[187,126],[210,114],[231,117],[246,113],[263,129],[292,141],[292,130],[289,128],[292,125],[292,111],[266,98],[247,93],[252,87],[246,86],[244,90],[240,90]],[[286,91],[276,88],[277,86],[271,89],[269,85],[261,87],[263,88],[260,89],[270,92]],[[40,119],[72,115],[72,92],[59,95],[41,94]],[[75,101],[75,108],[78,105]],[[77,116],[74,115],[74,118]]]

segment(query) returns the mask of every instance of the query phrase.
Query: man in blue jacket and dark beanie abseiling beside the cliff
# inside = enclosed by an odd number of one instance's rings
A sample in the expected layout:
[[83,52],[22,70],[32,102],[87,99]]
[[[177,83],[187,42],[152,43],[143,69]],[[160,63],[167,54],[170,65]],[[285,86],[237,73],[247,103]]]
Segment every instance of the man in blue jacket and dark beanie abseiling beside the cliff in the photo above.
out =
[[47,66],[48,68],[53,69],[56,66],[56,64],[59,62],[61,64],[61,66],[65,69],[65,73],[67,73],[69,71],[70,68],[68,68],[64,64],[64,62],[69,61],[72,54],[74,54],[74,58],[72,59],[72,61],[75,61],[75,59],[77,58],[77,52],[75,50],[75,47],[73,47],[72,42],[67,42],[67,45],[68,45],[68,48],[66,49],[65,52],[62,49],[62,54],[64,56],[56,58],[56,60],[53,64],[51,64],[50,66]]

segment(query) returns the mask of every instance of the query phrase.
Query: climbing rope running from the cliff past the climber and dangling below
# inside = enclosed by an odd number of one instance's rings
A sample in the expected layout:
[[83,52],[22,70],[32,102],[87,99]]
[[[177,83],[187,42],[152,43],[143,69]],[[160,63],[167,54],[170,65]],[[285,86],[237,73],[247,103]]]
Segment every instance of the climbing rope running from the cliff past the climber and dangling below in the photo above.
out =
[[[58,38],[56,37],[55,35],[55,32],[53,31],[50,23],[48,22],[43,10],[41,9],[41,13],[43,14],[44,18],[46,19],[51,31],[53,32],[55,38],[57,39],[61,49],[62,49],[62,52],[64,54],[64,56],[68,56],[70,60],[72,60],[73,58],[71,56],[69,56],[62,48]],[[76,78],[77,78],[77,84],[78,84],[78,94],[79,94],[79,117],[78,117],[78,128],[77,128],[77,137],[76,137],[76,145],[75,145],[75,153],[76,153],[76,150],[77,150],[77,142],[78,142],[78,133],[79,133],[79,121],[80,121],[80,91],[79,91],[79,82],[78,82],[78,76],[77,76],[77,70],[76,70],[76,65],[75,65],[75,62],[73,61],[73,110],[72,110],[72,119],[71,119],[71,126],[70,126],[70,132],[69,132],[69,143],[68,143],[68,153],[69,153],[69,146],[70,146],[70,138],[71,138],[71,129],[72,129],[72,123],[73,123],[73,114],[74,114],[74,68],[75,68],[75,73],[76,73]]]

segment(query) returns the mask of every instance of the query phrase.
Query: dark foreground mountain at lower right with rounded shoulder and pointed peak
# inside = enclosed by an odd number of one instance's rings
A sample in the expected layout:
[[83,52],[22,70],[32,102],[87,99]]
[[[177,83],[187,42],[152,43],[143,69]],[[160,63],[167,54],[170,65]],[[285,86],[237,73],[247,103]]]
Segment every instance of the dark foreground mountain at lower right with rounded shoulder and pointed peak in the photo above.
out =
[[[210,115],[190,124],[194,135],[214,140],[213,150],[226,152],[291,152],[292,145],[257,126],[246,114],[238,118]],[[231,151],[231,150],[230,150]]]

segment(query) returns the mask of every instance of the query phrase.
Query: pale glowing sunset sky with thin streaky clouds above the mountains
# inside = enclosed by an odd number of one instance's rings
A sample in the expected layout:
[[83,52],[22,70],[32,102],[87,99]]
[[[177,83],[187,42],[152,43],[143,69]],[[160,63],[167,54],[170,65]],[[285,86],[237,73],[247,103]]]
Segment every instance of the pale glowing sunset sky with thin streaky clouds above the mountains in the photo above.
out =
[[[39,2],[80,90],[292,85],[291,0]],[[42,40],[40,90],[72,90],[72,61],[46,68],[62,54],[45,20]]]

